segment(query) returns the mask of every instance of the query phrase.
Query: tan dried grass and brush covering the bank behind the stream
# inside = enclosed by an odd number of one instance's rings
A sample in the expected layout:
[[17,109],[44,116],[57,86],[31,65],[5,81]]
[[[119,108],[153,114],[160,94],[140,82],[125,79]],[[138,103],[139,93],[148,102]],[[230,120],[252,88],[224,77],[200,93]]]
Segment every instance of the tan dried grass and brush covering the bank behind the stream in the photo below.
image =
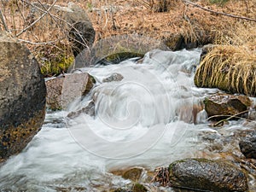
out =
[[[67,6],[63,0],[35,1],[48,4],[55,2],[57,5]],[[31,1],[3,0],[1,3],[6,26],[14,36],[23,32],[22,30],[31,24],[29,2]],[[183,44],[190,43],[197,45],[232,44],[232,47],[236,45],[237,50],[242,53],[255,55],[255,21],[214,14],[184,3],[182,0],[78,0],[70,2],[77,3],[87,10],[96,30],[96,41],[113,35],[137,34],[160,39],[171,49],[178,49]],[[193,3],[230,15],[256,18],[256,0],[198,0]],[[58,18],[54,19],[51,15],[44,17],[46,21],[38,21],[18,38],[37,56],[44,73],[52,75],[65,71],[73,61],[72,45],[67,41],[68,32],[56,25],[55,20]],[[4,30],[3,22],[1,28]],[[225,46],[224,49],[228,47]],[[216,52],[212,55],[218,55],[218,50],[214,51]],[[235,49],[232,48],[227,53],[232,51]],[[237,55],[240,55],[239,53]],[[246,62],[244,59],[242,57],[242,61]],[[57,63],[56,66],[53,63]],[[51,73],[54,67],[57,69]]]

